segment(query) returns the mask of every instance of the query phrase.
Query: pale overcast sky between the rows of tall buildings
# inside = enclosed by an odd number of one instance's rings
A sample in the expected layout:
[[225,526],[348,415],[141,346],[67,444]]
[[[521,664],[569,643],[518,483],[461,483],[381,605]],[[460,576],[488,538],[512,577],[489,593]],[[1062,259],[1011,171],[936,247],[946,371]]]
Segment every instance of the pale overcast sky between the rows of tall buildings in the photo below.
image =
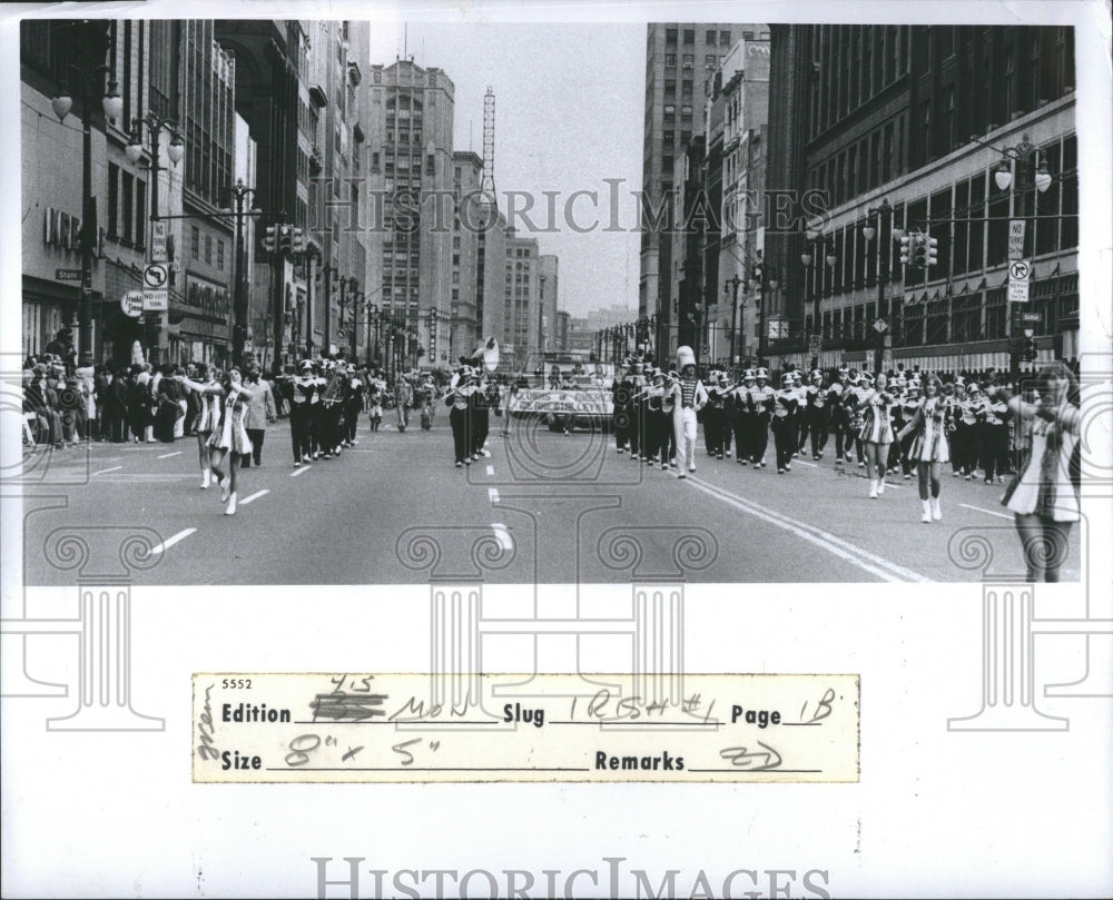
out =
[[[495,187],[536,198],[529,216],[548,227],[542,191],[559,191],[558,233],[536,234],[542,253],[560,257],[561,309],[573,316],[626,305],[638,308],[639,236],[631,190],[641,187],[646,26],[372,23],[371,62],[408,53],[423,68],[443,69],[455,85],[455,148],[483,155],[483,96],[495,93]],[[604,233],[611,188],[622,179],[621,231]],[[598,208],[581,197],[574,217],[587,234],[564,225],[577,190],[598,191]],[[523,201],[519,201],[520,207]],[[520,234],[528,229],[521,219]]]

